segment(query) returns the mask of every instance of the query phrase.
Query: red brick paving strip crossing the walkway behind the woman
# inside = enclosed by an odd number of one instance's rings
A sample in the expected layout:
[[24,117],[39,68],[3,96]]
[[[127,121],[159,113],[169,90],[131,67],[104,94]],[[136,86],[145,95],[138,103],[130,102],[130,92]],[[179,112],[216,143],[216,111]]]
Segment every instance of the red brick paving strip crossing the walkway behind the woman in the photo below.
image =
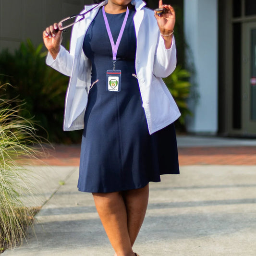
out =
[[[55,146],[49,157],[32,161],[36,165],[78,166],[80,145]],[[180,147],[180,165],[256,165],[256,146]]]

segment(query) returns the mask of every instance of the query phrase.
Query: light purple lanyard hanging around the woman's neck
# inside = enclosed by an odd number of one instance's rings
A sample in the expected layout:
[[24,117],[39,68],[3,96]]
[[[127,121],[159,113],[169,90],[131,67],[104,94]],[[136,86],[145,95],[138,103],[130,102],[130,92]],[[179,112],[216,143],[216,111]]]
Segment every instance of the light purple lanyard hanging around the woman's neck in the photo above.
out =
[[119,36],[117,38],[117,41],[116,41],[116,44],[114,43],[114,40],[113,40],[113,36],[112,36],[112,33],[111,33],[111,30],[110,30],[110,24],[108,22],[108,19],[107,19],[107,16],[106,16],[106,12],[105,12],[105,6],[103,6],[102,8],[102,12],[103,12],[103,17],[104,17],[104,21],[105,21],[105,25],[106,25],[106,29],[107,29],[107,32],[108,32],[108,35],[109,35],[109,38],[110,38],[110,43],[111,43],[111,47],[112,47],[112,54],[113,54],[113,64],[114,64],[114,69],[115,69],[115,62],[116,62],[116,55],[117,55],[117,50],[118,50],[118,47],[120,45],[120,41],[121,41],[121,38],[122,38],[122,34],[123,34],[123,31],[124,31],[124,27],[126,25],[126,22],[127,22],[127,19],[128,19],[128,15],[129,15],[129,8],[127,7],[127,10],[126,10],[126,14],[125,14],[125,17],[124,17],[124,20],[122,22],[122,27],[121,27],[121,30],[119,32]]

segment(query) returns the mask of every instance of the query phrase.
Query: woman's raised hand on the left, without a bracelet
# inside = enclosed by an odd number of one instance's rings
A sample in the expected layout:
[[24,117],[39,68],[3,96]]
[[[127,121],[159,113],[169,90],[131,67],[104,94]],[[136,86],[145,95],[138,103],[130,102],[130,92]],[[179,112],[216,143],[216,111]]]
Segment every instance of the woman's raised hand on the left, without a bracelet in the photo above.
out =
[[62,31],[59,30],[58,23],[54,23],[43,32],[45,47],[49,50],[50,55],[55,60],[61,49]]

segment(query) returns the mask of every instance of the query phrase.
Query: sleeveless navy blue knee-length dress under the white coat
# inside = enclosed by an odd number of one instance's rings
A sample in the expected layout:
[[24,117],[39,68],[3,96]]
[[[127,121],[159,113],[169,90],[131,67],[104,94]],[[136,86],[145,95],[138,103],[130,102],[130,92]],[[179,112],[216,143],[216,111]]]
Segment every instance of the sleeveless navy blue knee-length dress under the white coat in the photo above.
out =
[[[150,135],[135,74],[135,10],[130,10],[117,52],[122,70],[120,92],[107,91],[106,71],[113,69],[112,49],[102,9],[89,26],[83,50],[92,62],[92,86],[85,111],[78,189],[109,193],[159,182],[161,174],[178,174],[174,125]],[[116,42],[124,13],[106,13]],[[153,17],[154,18],[154,17]],[[146,57],[146,56],[145,56]]]

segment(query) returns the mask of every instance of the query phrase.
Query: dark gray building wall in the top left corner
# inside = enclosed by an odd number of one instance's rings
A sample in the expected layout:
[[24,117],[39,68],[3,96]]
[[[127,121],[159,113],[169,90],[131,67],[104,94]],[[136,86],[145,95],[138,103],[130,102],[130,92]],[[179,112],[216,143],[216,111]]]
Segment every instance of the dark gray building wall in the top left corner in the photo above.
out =
[[[42,42],[46,26],[80,12],[91,0],[0,0],[0,50],[17,49],[30,38],[34,45]],[[70,31],[63,35],[63,44]]]

